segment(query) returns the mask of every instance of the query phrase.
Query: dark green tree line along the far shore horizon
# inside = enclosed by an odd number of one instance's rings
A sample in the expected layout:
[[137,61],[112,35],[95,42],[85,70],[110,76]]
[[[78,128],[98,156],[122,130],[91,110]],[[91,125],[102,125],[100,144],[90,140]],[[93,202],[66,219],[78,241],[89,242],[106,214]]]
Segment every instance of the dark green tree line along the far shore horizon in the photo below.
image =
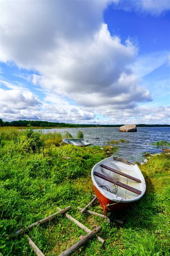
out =
[[[123,124],[119,125],[104,125],[104,124],[75,124],[75,123],[60,123],[60,122],[48,122],[48,121],[34,121],[34,120],[18,120],[18,121],[3,121],[0,118],[0,126],[15,126],[15,127],[120,127]],[[137,124],[137,127],[169,127],[170,125],[147,125],[147,124]]]

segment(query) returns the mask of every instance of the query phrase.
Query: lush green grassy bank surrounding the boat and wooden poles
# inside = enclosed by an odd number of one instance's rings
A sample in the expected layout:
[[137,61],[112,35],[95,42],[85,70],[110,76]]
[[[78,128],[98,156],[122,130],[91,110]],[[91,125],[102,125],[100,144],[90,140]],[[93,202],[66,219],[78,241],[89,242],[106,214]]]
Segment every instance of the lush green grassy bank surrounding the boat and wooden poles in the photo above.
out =
[[[77,206],[84,207],[93,198],[91,168],[108,156],[107,149],[62,145],[62,135],[57,133],[0,131],[0,252],[3,255],[34,255],[24,236],[8,239],[6,235],[56,212],[57,206],[69,205],[70,215],[88,228],[101,225],[99,235],[106,240],[102,247],[94,238],[77,252],[79,255],[168,255],[168,155],[152,156],[140,167],[147,191],[139,202],[115,215],[124,221],[121,227],[107,224],[98,216],[80,215],[77,210]],[[116,149],[112,147],[112,152]],[[102,213],[97,202],[93,210]],[[60,254],[85,234],[63,216],[29,232],[48,256]]]

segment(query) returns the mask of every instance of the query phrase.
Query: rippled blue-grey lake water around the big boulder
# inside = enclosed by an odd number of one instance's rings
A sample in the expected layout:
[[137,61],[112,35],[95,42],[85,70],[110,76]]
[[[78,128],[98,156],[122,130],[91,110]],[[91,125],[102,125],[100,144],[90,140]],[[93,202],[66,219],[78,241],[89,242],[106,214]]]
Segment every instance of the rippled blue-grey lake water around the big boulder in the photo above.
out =
[[[76,138],[77,131],[84,133],[84,138],[90,140],[94,145],[108,145],[109,140],[129,140],[129,143],[118,144],[119,151],[115,154],[130,161],[143,161],[143,153],[160,153],[162,149],[154,148],[151,143],[167,140],[170,141],[170,127],[137,127],[136,133],[119,132],[117,127],[94,127],[94,128],[54,128],[43,130],[44,133],[54,131],[65,133],[68,131]],[[98,138],[98,139],[97,139]],[[116,145],[115,145],[116,146]]]

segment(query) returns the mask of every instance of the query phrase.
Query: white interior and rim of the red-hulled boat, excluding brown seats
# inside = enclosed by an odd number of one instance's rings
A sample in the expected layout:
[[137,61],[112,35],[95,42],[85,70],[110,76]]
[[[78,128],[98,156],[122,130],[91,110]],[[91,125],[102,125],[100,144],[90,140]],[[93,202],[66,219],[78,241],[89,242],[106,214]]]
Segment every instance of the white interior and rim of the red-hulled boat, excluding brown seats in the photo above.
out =
[[[117,159],[117,160],[115,160]],[[121,160],[121,161],[118,161]],[[122,201],[122,202],[131,202],[140,199],[146,190],[145,179],[142,175],[141,170],[136,164],[123,160],[121,158],[114,158],[113,156],[105,158],[104,160],[97,163],[91,172],[91,177],[93,180],[93,184],[95,187],[108,199],[113,201]],[[114,170],[117,170],[125,175],[130,175],[133,178],[140,180],[141,182],[137,182],[135,180],[129,179],[125,176],[122,176],[114,171],[110,171],[105,169],[101,165],[111,167]],[[111,183],[103,178],[96,176],[94,172],[105,175],[115,181],[115,183]],[[117,181],[134,188],[136,191],[140,190],[140,194],[129,191],[126,188],[120,187],[117,185]]]

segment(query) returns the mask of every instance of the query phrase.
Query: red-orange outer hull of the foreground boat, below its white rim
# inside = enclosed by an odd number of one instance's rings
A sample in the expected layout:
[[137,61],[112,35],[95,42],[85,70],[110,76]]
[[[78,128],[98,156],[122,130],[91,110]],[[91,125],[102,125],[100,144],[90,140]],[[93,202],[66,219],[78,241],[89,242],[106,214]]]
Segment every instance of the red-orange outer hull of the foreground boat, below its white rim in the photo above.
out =
[[[115,202],[112,201],[110,199],[108,199],[107,197],[105,197],[93,184],[93,188],[96,194],[96,197],[98,198],[98,201],[100,203],[100,205],[103,208],[103,212],[104,214],[107,214],[107,212],[112,212],[112,211],[119,211],[122,210],[130,205],[133,204],[133,202]],[[109,205],[109,206],[108,206]]]

